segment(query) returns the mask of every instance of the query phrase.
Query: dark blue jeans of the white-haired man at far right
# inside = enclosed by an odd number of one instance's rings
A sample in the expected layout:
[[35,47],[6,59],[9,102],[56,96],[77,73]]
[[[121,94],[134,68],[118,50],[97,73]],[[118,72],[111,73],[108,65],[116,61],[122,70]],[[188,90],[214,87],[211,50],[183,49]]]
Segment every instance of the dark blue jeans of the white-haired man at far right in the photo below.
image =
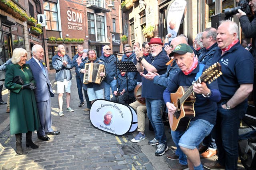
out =
[[240,119],[244,117],[247,102],[227,110],[218,104],[217,119],[212,135],[218,148],[217,162],[226,166],[226,170],[237,169],[238,158],[238,129]]

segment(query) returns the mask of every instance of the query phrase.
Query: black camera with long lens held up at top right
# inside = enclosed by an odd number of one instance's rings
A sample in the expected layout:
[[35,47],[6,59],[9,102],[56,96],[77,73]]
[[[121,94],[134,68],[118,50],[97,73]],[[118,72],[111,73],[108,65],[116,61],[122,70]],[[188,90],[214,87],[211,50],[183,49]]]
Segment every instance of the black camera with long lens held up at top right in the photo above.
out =
[[250,14],[249,0],[239,0],[237,7],[224,9],[226,18],[229,18],[238,13],[238,10],[242,10],[246,15]]

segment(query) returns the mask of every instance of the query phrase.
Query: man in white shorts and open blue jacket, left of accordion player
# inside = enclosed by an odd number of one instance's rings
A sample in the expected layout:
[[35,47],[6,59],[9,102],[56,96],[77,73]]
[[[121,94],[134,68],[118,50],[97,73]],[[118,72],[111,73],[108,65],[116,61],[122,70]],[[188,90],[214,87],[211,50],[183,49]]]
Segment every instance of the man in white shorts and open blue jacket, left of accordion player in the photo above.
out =
[[66,91],[66,102],[67,102],[67,111],[74,111],[70,106],[71,98],[71,79],[72,74],[70,69],[73,68],[72,60],[65,53],[64,45],[58,45],[58,54],[52,57],[52,66],[56,70],[55,80],[57,82],[57,93],[58,93],[58,102],[60,107],[59,116],[64,116],[62,105],[63,105],[63,94],[64,88]]

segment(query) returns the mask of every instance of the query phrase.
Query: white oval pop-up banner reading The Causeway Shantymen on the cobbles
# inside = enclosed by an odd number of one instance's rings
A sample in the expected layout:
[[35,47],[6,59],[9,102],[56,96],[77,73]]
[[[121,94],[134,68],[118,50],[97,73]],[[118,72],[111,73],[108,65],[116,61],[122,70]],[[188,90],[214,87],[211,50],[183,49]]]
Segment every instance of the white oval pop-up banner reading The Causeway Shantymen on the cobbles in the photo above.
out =
[[90,121],[97,129],[113,135],[134,132],[138,127],[137,114],[132,107],[104,99],[93,102]]

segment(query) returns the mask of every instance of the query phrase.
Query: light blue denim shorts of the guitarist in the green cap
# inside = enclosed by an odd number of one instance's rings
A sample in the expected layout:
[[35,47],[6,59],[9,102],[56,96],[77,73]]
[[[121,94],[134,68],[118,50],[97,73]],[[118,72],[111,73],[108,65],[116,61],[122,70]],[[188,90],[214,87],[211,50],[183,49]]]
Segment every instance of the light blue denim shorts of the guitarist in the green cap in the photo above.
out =
[[188,129],[180,138],[179,146],[195,149],[204,140],[204,137],[211,133],[213,127],[213,124],[203,119],[190,121]]

